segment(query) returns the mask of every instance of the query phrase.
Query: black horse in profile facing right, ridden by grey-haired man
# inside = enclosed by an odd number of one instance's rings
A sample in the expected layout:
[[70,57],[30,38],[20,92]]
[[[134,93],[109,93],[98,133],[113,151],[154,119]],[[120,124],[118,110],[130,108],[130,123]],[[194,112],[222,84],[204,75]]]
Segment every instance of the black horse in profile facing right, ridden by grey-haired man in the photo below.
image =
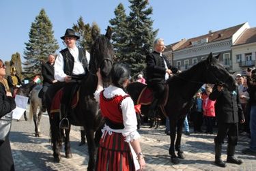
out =
[[[171,162],[173,164],[179,163],[178,157],[184,159],[183,151],[180,149],[182,126],[185,116],[192,106],[193,95],[195,95],[204,83],[216,84],[222,82],[230,90],[236,88],[236,81],[218,61],[218,57],[219,55],[216,58],[212,57],[212,53],[210,53],[207,59],[167,80],[169,95],[165,111],[170,120],[171,145],[169,154],[171,155]],[[127,91],[134,102],[137,102],[139,94],[144,87],[145,85],[139,82],[128,85]],[[175,142],[176,131],[177,139]],[[175,150],[178,156],[175,155]]]

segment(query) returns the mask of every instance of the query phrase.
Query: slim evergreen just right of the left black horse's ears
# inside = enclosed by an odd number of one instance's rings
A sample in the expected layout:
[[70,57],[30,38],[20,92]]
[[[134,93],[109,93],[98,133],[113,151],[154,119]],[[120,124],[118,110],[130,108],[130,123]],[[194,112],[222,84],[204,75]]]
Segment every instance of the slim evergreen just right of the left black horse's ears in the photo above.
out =
[[115,50],[115,61],[128,62],[126,59],[126,47],[128,46],[128,23],[124,5],[119,3],[115,8],[115,18],[109,20],[113,29],[113,48]]

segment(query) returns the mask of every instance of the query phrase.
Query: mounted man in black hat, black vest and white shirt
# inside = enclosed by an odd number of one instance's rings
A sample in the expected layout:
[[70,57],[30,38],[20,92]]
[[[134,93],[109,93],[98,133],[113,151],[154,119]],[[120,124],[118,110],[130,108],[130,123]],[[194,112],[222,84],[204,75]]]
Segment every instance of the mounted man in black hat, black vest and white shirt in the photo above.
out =
[[[83,48],[76,47],[76,40],[79,36],[74,30],[67,29],[65,35],[61,37],[67,48],[61,50],[55,61],[55,80],[58,80],[46,93],[46,101],[50,100],[55,93],[63,87],[63,95],[61,97],[60,112],[61,122],[60,128],[68,127],[67,111],[70,109],[71,96],[74,94],[77,82],[83,79],[87,72],[89,63],[89,52]],[[49,103],[49,102],[47,102]]]

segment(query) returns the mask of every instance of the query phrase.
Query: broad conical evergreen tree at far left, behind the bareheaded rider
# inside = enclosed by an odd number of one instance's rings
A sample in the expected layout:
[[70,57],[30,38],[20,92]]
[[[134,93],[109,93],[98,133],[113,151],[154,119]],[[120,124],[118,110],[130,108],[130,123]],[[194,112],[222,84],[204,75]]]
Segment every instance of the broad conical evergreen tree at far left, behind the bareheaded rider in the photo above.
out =
[[46,61],[49,54],[55,53],[59,48],[53,36],[53,25],[44,9],[40,10],[29,31],[29,42],[25,43],[24,76],[33,78],[41,74],[41,62]]

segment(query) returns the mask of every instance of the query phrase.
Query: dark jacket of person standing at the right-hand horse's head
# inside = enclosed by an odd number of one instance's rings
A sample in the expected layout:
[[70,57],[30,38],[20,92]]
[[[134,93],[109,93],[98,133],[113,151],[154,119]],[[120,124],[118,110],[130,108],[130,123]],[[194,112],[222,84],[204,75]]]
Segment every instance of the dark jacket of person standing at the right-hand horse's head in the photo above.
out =
[[244,113],[240,105],[240,98],[238,95],[238,88],[236,93],[229,91],[223,87],[222,91],[218,91],[215,85],[209,98],[216,100],[215,112],[218,123],[238,123],[244,119]]

